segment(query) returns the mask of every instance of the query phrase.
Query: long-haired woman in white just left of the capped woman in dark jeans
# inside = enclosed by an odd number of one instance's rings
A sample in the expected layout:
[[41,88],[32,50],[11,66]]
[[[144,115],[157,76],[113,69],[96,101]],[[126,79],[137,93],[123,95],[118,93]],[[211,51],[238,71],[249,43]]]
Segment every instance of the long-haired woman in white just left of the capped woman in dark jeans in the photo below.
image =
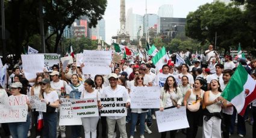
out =
[[[42,74],[37,75],[36,82],[34,83],[34,85],[31,88],[31,91],[30,91],[30,95],[31,96],[36,95],[36,96],[39,97],[40,89],[41,89],[41,86],[40,86],[39,83],[42,82],[42,80],[43,80]],[[32,126],[36,126],[37,127],[37,118],[39,116],[39,112],[36,111],[36,109],[33,109],[32,113],[33,113],[33,120],[34,120],[34,124],[32,124]],[[42,135],[42,131],[36,129],[36,138],[39,138],[41,135]]]

